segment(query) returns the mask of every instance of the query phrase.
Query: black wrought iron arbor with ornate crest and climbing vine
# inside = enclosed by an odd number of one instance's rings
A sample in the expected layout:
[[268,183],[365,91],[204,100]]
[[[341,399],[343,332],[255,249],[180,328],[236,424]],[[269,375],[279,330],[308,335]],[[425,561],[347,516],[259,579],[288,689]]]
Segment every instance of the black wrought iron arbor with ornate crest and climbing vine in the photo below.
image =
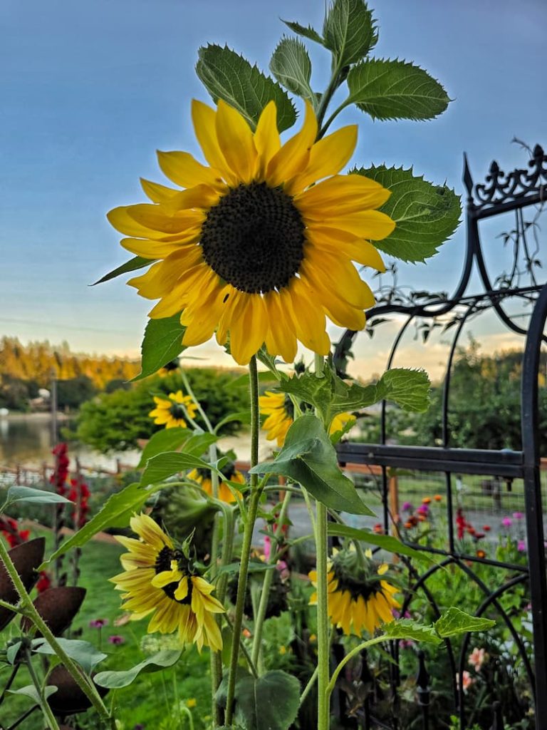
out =
[[[481,605],[476,610],[482,615],[489,610],[496,610],[499,620],[505,623],[511,634],[513,645],[521,656],[526,675],[529,680],[530,693],[535,705],[535,728],[544,730],[547,723],[547,580],[546,558],[543,530],[543,500],[540,485],[540,454],[538,449],[538,371],[540,349],[546,341],[543,334],[547,321],[547,285],[538,282],[535,274],[535,255],[538,246],[532,250],[532,233],[524,220],[524,210],[535,206],[540,210],[547,199],[547,156],[537,145],[531,150],[528,169],[516,169],[505,174],[496,162],[492,162],[484,184],[474,184],[470,174],[467,158],[464,164],[463,180],[468,191],[466,205],[467,248],[462,274],[456,290],[450,297],[437,296],[425,301],[403,299],[388,296],[385,301],[369,312],[369,322],[384,315],[397,313],[405,318],[397,332],[389,354],[388,368],[392,366],[397,348],[408,327],[416,320],[432,322],[442,315],[451,314],[456,322],[452,328],[452,339],[449,358],[446,364],[446,375],[443,382],[442,407],[442,445],[430,447],[411,447],[389,445],[387,443],[387,420],[385,403],[381,412],[381,436],[376,444],[344,443],[338,448],[341,464],[358,463],[381,466],[382,468],[382,502],[384,506],[384,529],[392,528],[388,502],[388,469],[414,469],[421,472],[443,472],[446,480],[446,510],[449,527],[446,549],[426,548],[413,545],[419,550],[430,550],[438,553],[441,560],[426,572],[419,573],[414,566],[409,566],[414,585],[406,596],[403,611],[411,604],[416,591],[423,591],[431,604],[434,613],[438,614],[436,596],[428,588],[432,575],[445,566],[454,566],[461,570],[468,580],[472,581],[484,594]],[[481,243],[481,222],[486,218],[513,212],[515,215],[513,243],[513,264],[508,273],[492,280],[485,261],[485,252]],[[469,293],[473,272],[478,273],[482,291]],[[522,278],[526,276],[527,282]],[[398,301],[394,301],[398,299]],[[403,299],[403,301],[401,301]],[[528,325],[522,326],[508,311],[510,300],[527,303],[533,306]],[[457,352],[462,330],[474,315],[485,310],[495,312],[503,325],[525,338],[524,358],[521,377],[521,449],[477,450],[451,447],[449,428],[449,404],[451,393],[451,372],[454,356]],[[357,333],[346,331],[335,350],[335,362],[338,369],[344,372],[346,356]],[[484,404],[487,407],[487,404]],[[475,566],[486,558],[461,552],[454,536],[454,475],[489,475],[505,480],[521,479],[524,482],[524,499],[527,525],[528,562],[527,566],[508,564],[503,561],[489,559],[492,566],[500,569],[500,581],[497,585],[485,585],[476,574]],[[529,587],[533,626],[533,661],[530,661],[519,630],[504,610],[500,598],[506,591],[516,585],[525,583]],[[457,685],[457,675],[462,676],[465,658],[468,654],[470,634],[467,634],[457,655],[450,641],[446,642],[446,651],[452,677],[452,695],[454,712],[458,715],[459,726],[465,730],[468,722],[465,694]],[[398,645],[392,645],[392,658],[399,660]],[[400,672],[397,666],[390,672],[390,685],[393,702],[397,704],[397,687],[400,684]],[[460,683],[461,684],[461,683]],[[419,672],[416,680],[418,695],[416,701],[420,706],[421,726],[424,730],[437,727],[430,718],[430,693],[428,691],[427,668],[423,655],[419,656]],[[502,698],[497,698],[502,699]],[[378,718],[373,702],[365,703],[360,711],[364,727],[384,727],[401,730],[395,716],[387,723],[385,718]],[[501,729],[500,704],[494,702],[492,707],[492,728]]]

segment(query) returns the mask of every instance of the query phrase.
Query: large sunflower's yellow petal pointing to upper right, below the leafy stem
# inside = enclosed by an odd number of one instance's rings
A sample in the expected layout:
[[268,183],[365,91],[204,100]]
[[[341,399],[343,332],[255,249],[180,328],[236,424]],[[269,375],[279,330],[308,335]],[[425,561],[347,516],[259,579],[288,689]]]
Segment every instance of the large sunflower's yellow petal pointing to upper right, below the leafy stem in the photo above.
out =
[[319,139],[319,142],[311,147],[308,166],[292,180],[287,192],[295,195],[311,183],[340,172],[352,157],[355,145],[357,145],[356,124],[337,129],[328,137]]

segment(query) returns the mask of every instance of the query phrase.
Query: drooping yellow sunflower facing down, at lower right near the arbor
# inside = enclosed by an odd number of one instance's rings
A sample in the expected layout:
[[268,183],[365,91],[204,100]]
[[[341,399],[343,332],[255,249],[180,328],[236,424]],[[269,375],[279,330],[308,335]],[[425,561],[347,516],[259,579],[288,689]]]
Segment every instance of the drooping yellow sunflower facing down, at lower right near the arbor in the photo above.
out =
[[[379,574],[383,575],[387,566],[380,566]],[[317,585],[317,571],[309,573],[313,585]],[[392,609],[400,608],[393,598],[397,593],[387,580],[376,577],[357,579],[349,575],[339,564],[333,564],[327,574],[328,610],[330,621],[344,634],[361,636],[363,629],[373,634],[377,626],[393,621]],[[317,593],[313,593],[310,604],[317,604]]]

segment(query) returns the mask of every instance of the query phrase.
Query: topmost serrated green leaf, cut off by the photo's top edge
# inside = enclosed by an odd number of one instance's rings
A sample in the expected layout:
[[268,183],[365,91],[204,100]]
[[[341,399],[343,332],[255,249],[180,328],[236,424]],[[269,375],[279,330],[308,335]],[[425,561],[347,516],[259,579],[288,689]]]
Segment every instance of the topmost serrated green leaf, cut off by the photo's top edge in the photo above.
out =
[[323,36],[325,47],[343,68],[368,55],[378,42],[378,29],[362,0],[334,0],[325,18]]

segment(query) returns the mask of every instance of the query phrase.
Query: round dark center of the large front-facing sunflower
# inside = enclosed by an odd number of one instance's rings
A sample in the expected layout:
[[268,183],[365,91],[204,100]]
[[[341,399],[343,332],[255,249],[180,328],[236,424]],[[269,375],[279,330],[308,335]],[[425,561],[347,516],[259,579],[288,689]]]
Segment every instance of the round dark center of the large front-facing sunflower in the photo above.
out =
[[287,286],[303,259],[304,223],[292,198],[265,183],[239,185],[207,214],[203,258],[239,291]]

